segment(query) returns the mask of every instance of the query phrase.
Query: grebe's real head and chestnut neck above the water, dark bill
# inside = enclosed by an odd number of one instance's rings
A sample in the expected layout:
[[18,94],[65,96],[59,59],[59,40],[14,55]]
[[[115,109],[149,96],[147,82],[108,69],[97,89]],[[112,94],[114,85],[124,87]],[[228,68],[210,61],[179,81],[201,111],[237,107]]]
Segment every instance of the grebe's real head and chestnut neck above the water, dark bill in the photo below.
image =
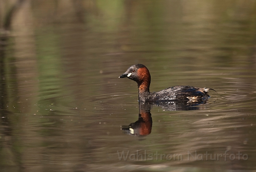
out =
[[119,78],[129,78],[130,80],[134,80],[138,83],[138,87],[140,91],[149,92],[150,85],[150,73],[148,68],[142,64],[135,64],[130,66],[124,74],[119,76]]

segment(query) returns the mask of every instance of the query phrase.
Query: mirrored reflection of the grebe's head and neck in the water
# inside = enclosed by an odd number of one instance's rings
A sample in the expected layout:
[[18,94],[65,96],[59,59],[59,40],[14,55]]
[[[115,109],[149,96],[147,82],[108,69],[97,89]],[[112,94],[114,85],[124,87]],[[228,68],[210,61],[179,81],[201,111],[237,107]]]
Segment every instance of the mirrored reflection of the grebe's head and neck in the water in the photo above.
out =
[[152,118],[150,114],[150,105],[139,103],[139,119],[135,123],[131,123],[129,126],[122,126],[122,130],[126,134],[145,136],[151,133]]

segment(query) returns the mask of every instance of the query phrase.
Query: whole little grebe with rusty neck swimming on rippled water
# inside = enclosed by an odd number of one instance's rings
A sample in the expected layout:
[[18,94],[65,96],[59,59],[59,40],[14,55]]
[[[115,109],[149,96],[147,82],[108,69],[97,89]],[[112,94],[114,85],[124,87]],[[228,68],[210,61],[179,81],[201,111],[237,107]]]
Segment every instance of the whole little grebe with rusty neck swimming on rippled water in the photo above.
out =
[[167,89],[150,92],[150,73],[146,66],[135,64],[130,66],[127,71],[119,78],[127,77],[138,83],[139,101],[142,102],[166,102],[166,101],[188,101],[188,102],[205,102],[210,96],[210,88],[197,88],[191,86],[175,86]]

